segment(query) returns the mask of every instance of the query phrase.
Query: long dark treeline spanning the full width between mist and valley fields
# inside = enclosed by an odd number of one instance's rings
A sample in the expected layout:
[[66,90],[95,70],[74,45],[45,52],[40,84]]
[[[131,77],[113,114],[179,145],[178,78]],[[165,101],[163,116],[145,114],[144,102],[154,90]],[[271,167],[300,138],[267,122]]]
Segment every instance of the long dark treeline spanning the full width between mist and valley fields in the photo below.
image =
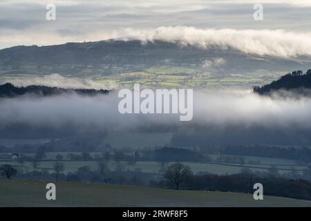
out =
[[[71,144],[71,143],[70,143]],[[82,145],[83,148],[79,148]],[[37,153],[37,151],[72,151],[72,152],[88,152],[92,151],[108,151],[114,153],[117,151],[111,148],[109,144],[101,146],[97,149],[96,144],[83,145],[79,142],[75,144],[62,146],[62,148],[53,148],[51,143],[46,144],[16,144],[12,147],[1,146],[0,153]],[[236,155],[236,156],[256,156],[256,157],[272,157],[288,160],[295,160],[299,164],[308,164],[311,162],[311,149],[308,147],[279,147],[279,146],[264,146],[264,145],[207,145],[200,146],[195,150],[191,148],[173,148],[173,147],[157,147],[157,148],[142,148],[136,149],[131,147],[118,148],[122,153],[138,153],[141,161],[156,161],[156,162],[202,162],[210,161],[207,157],[209,154],[215,155]],[[95,159],[90,159],[95,160]],[[123,157],[120,160],[126,160]]]

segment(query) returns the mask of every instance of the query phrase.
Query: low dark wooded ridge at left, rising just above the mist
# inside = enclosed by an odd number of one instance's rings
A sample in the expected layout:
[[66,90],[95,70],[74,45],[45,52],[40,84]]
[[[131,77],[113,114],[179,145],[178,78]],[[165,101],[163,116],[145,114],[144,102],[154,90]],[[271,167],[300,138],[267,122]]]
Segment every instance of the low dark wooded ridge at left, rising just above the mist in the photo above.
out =
[[51,95],[61,95],[64,93],[77,93],[78,95],[98,95],[98,94],[107,94],[109,93],[109,90],[64,89],[64,88],[35,86],[35,85],[26,87],[16,87],[10,83],[0,85],[0,97],[17,97],[26,94],[51,96]]

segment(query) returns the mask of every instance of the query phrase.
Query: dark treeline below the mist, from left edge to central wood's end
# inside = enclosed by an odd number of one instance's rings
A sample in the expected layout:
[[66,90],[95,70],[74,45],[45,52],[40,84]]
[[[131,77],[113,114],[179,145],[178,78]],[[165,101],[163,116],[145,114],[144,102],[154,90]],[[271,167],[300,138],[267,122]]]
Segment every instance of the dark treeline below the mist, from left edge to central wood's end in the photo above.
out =
[[[70,143],[71,144],[71,143]],[[83,148],[80,148],[80,146],[83,146]],[[131,147],[124,147],[124,148],[111,148],[109,144],[106,144],[105,146],[101,146],[100,149],[97,149],[94,145],[91,144],[80,144],[79,142],[75,142],[74,144],[66,146],[61,146],[61,148],[53,148],[50,143],[46,144],[16,144],[12,147],[7,146],[1,146],[0,145],[0,153],[3,153],[0,155],[0,159],[6,156],[7,160],[10,159],[10,154],[5,153],[38,153],[38,152],[64,152],[64,151],[72,151],[73,153],[67,155],[67,160],[73,160],[73,161],[94,161],[98,160],[99,157],[92,157],[89,153],[92,151],[101,151],[103,155],[105,153],[109,153],[112,155],[117,155],[119,158],[119,161],[127,161],[129,160],[126,155],[135,155],[136,160],[140,161],[156,161],[156,162],[200,162],[204,160],[204,157],[201,153],[198,153],[198,151],[191,151],[186,148],[173,148],[173,147],[157,147],[157,148],[143,148],[143,149],[135,149]],[[75,153],[75,152],[82,152]],[[88,154],[88,157],[84,157]],[[122,153],[122,154],[120,154]],[[106,160],[111,160],[107,157]],[[55,160],[55,159],[42,159],[42,160]]]

